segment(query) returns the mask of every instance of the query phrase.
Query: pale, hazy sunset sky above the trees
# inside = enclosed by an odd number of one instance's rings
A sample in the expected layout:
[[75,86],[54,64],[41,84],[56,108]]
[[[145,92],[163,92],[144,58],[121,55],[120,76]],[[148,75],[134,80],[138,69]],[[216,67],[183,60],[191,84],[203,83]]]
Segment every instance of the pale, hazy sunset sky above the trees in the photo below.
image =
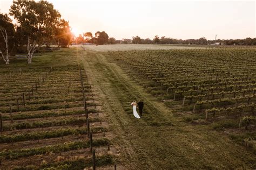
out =
[[[244,39],[256,37],[255,1],[49,0],[76,36],[105,31],[116,39]],[[9,13],[12,0],[0,0]]]

